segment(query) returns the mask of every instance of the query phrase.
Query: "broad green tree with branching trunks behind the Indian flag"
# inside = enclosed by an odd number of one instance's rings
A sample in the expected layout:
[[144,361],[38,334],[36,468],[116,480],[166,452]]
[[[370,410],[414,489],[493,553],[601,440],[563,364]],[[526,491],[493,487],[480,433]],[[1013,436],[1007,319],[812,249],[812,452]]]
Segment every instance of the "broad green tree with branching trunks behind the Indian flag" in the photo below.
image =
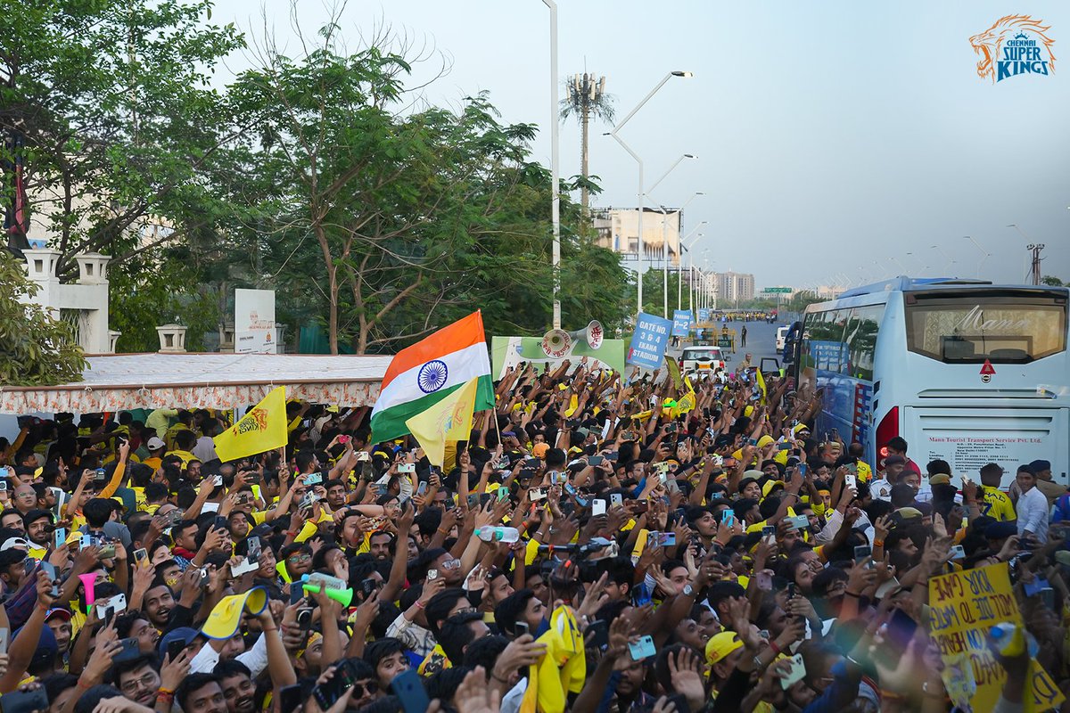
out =
[[[245,146],[255,180],[233,201],[255,206],[262,272],[325,315],[331,352],[397,348],[476,308],[491,334],[545,328],[551,184],[530,159],[534,126],[502,124],[485,94],[406,112],[406,58],[347,50],[337,24],[303,46],[295,59],[269,47],[231,90],[257,138]],[[618,321],[616,258],[563,232],[565,279],[585,291],[566,313]],[[600,293],[584,275],[606,281]]]

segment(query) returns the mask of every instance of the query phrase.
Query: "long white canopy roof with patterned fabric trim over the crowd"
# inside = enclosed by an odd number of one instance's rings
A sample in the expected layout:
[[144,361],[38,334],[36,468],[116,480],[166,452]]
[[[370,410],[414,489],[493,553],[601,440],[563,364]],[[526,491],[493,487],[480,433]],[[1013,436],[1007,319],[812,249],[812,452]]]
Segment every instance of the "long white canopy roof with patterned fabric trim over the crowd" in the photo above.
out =
[[2,414],[75,414],[124,408],[232,408],[286,386],[287,398],[371,406],[391,356],[311,354],[102,354],[83,381],[0,386]]

